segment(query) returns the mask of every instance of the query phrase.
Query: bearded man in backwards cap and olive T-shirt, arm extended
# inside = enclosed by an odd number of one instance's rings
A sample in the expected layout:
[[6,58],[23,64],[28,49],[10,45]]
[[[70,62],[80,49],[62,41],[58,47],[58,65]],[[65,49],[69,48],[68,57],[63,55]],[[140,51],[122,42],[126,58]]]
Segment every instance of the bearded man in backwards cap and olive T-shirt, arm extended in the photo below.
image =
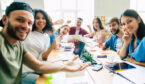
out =
[[34,23],[32,8],[24,2],[13,2],[6,8],[5,14],[2,18],[3,30],[0,32],[0,84],[21,84],[22,63],[38,73],[75,72],[90,65],[74,64],[77,57],[68,64],[64,64],[63,61],[38,61],[21,43]]

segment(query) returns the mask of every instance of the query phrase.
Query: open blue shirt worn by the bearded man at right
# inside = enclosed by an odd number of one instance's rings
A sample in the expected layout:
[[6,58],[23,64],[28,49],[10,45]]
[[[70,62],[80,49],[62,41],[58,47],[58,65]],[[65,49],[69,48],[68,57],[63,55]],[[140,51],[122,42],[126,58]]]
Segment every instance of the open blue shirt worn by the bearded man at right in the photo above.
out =
[[118,39],[118,37],[116,35],[111,35],[110,39],[108,41],[106,41],[105,47],[116,51],[117,39]]

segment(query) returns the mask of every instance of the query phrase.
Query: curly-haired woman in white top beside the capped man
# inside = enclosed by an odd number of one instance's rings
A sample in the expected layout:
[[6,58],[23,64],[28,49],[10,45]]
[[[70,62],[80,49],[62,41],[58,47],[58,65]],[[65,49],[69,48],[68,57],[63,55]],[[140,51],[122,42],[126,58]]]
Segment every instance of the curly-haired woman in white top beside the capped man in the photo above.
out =
[[[55,41],[50,47],[50,38],[46,31],[52,31],[51,19],[43,10],[35,10],[35,21],[32,27],[32,32],[28,35],[27,39],[23,42],[24,47],[38,60],[43,60],[48,57],[49,53],[55,46]],[[23,84],[35,84],[38,74],[23,65]]]

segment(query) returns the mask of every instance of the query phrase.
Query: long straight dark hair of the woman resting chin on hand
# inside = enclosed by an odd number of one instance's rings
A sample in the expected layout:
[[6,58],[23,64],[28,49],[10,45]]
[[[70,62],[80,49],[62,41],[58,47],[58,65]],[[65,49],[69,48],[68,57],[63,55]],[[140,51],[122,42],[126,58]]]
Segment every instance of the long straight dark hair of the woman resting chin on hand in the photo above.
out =
[[[132,18],[135,18],[136,20],[140,17],[139,14],[133,9],[125,10],[121,14],[120,20],[123,16],[132,17]],[[143,20],[141,19],[141,21],[139,23],[139,28],[137,30],[137,38],[141,40],[144,36],[145,36],[145,24],[144,24]]]

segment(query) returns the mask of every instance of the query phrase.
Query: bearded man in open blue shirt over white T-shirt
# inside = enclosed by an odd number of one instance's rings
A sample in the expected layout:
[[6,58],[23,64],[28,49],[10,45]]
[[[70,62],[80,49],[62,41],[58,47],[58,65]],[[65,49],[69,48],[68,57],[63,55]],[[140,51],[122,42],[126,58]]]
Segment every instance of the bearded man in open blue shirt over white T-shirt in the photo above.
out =
[[120,49],[123,46],[123,31],[120,28],[120,22],[117,17],[114,17],[109,22],[110,31],[112,33],[112,36],[108,41],[105,42],[105,45],[103,46],[103,49],[110,48],[114,51],[120,51]]

